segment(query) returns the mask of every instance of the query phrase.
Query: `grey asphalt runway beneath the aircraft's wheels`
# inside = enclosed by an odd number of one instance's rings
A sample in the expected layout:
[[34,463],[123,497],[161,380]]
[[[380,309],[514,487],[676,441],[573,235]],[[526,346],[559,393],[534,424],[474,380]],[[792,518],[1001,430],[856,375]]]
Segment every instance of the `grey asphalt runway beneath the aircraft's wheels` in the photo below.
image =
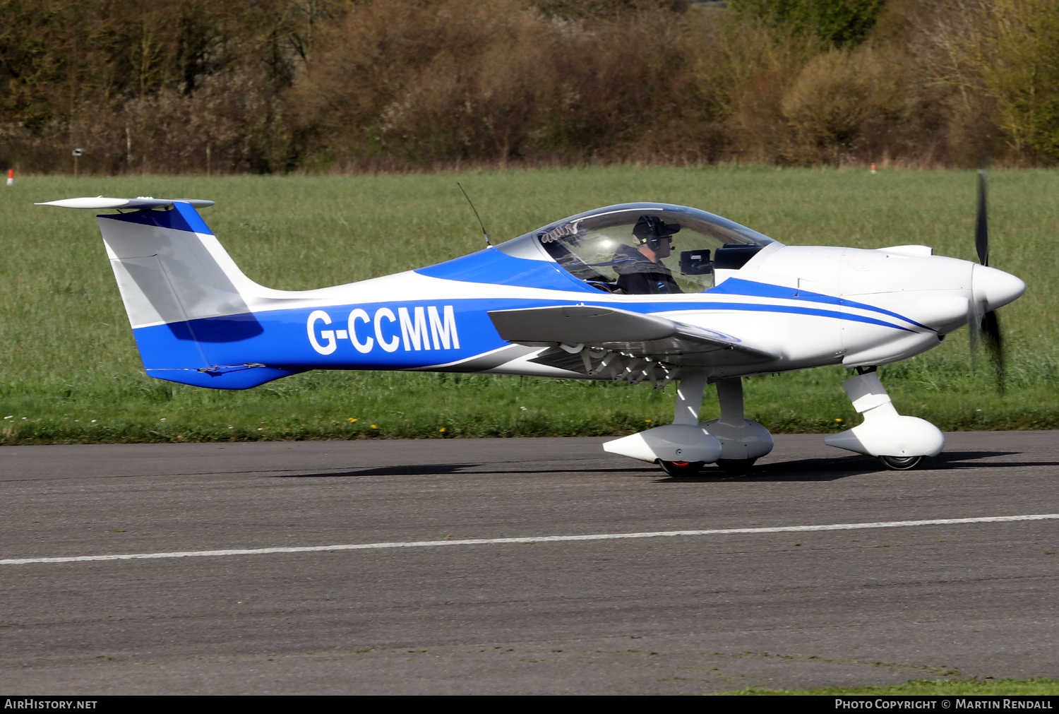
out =
[[[190,555],[0,564],[0,692],[1059,677],[1059,520],[772,530],[1059,513],[1059,432],[947,439],[889,471],[777,436],[699,478],[604,439],[2,447],[0,560]],[[732,529],[767,531],[537,540]],[[424,541],[448,545],[293,550]],[[275,550],[196,554],[240,549]]]

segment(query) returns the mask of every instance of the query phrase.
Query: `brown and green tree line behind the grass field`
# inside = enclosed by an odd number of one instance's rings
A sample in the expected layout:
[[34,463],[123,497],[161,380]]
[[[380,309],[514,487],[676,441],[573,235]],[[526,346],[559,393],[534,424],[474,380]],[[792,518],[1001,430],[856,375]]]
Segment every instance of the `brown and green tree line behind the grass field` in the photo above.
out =
[[0,162],[1059,159],[1053,0],[0,0]]

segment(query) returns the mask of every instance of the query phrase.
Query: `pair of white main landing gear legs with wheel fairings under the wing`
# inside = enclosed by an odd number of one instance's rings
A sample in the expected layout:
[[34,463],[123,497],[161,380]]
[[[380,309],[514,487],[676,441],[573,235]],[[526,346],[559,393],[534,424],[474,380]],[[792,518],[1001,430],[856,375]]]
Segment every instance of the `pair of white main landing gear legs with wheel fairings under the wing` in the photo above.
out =
[[686,373],[677,389],[672,424],[607,442],[604,449],[657,463],[669,476],[693,476],[713,463],[728,472],[749,470],[772,450],[772,435],[743,416],[739,377],[716,382],[721,416],[699,424],[706,380],[703,372]]

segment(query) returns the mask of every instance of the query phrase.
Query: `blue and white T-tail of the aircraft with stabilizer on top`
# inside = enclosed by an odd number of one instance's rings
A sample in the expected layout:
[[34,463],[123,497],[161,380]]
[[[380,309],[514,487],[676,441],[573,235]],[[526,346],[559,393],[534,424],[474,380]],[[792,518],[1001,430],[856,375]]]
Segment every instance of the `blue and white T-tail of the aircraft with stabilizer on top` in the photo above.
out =
[[253,363],[236,344],[264,332],[247,303],[264,288],[239,270],[195,210],[212,203],[100,197],[48,204],[138,209],[97,220],[148,375],[247,389],[293,374]]

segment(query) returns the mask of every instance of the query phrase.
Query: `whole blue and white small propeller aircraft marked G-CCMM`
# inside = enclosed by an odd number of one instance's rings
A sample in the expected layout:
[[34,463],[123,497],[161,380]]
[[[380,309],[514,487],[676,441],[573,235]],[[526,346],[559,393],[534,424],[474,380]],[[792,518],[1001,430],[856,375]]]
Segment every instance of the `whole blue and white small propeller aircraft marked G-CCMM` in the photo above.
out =
[[[197,209],[207,200],[70,198],[97,216],[148,375],[248,389],[307,370],[423,370],[678,383],[672,424],[604,444],[670,475],[748,469],[771,434],[743,415],[742,377],[826,364],[863,422],[830,446],[914,468],[945,445],[897,413],[876,373],[970,324],[999,345],[994,310],[1025,284],[927,246],[786,246],[705,211],[623,203],[446,263],[317,290],[247,278]],[[483,227],[483,234],[485,229]],[[664,260],[679,239],[679,272]],[[699,423],[714,383],[720,417]]]

